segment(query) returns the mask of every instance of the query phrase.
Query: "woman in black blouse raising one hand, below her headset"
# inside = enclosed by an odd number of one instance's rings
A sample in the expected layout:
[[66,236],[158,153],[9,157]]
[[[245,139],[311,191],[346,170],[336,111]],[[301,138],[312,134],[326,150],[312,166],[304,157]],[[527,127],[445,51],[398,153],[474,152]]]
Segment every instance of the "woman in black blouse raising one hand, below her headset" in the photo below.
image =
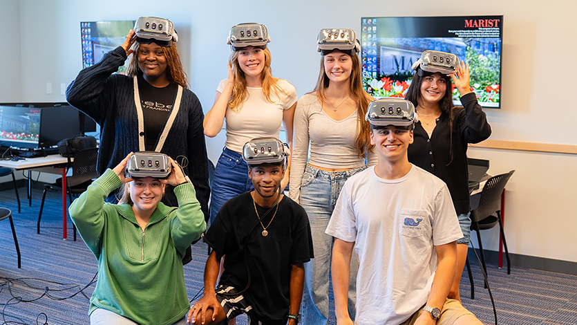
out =
[[[467,145],[489,138],[491,127],[469,89],[469,64],[461,62],[457,73],[451,75],[427,72],[419,66],[415,70],[405,99],[415,105],[419,122],[408,147],[408,160],[441,178],[451,192],[464,237],[457,241],[457,273],[448,298],[461,301],[459,284],[471,239]],[[463,107],[453,106],[452,86],[461,94]]]

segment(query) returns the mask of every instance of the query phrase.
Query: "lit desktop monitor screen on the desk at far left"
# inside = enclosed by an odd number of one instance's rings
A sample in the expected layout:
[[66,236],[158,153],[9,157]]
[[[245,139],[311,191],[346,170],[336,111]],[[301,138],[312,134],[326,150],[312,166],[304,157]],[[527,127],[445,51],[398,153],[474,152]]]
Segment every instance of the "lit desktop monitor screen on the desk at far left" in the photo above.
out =
[[38,147],[40,110],[34,107],[0,106],[0,145]]

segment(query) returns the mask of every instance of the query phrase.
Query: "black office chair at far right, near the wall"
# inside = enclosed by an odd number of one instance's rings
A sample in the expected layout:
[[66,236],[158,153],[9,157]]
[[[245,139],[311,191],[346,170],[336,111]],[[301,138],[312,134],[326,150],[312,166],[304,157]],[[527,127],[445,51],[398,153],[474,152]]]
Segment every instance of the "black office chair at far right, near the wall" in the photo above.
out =
[[501,221],[501,194],[505,189],[505,185],[507,185],[507,181],[511,178],[511,175],[513,175],[514,172],[515,171],[512,170],[507,174],[500,174],[489,178],[480,194],[479,206],[475,208],[475,210],[471,210],[471,230],[477,232],[477,241],[479,243],[479,251],[481,252],[481,263],[485,274],[487,268],[480,230],[491,229],[497,224],[499,224],[501,239],[505,248],[505,257],[507,257],[507,274],[511,274],[511,259],[509,259],[509,250],[507,249],[507,241],[505,240],[503,223]]

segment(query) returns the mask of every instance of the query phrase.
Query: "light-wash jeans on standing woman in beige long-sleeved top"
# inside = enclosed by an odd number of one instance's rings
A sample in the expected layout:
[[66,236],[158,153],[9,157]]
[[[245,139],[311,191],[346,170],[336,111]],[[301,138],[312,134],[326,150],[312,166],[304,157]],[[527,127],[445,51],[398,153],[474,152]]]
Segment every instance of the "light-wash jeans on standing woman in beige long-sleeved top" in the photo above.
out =
[[[347,171],[323,171],[310,165],[305,168],[301,180],[299,201],[305,208],[312,231],[314,259],[305,263],[305,288],[303,290],[302,324],[326,325],[329,318],[329,281],[332,258],[332,236],[325,234],[337,198],[346,180],[365,166]],[[348,312],[351,319],[356,314],[357,272],[359,262],[352,254],[350,263],[350,283]]]

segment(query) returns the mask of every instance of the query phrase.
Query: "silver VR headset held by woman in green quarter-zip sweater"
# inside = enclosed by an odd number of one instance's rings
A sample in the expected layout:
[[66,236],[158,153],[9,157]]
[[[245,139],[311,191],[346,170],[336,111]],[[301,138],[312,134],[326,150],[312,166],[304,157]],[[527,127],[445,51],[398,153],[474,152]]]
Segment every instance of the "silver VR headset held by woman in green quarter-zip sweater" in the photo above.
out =
[[171,171],[169,156],[155,151],[140,151],[133,154],[126,164],[126,173],[131,178],[167,178]]

